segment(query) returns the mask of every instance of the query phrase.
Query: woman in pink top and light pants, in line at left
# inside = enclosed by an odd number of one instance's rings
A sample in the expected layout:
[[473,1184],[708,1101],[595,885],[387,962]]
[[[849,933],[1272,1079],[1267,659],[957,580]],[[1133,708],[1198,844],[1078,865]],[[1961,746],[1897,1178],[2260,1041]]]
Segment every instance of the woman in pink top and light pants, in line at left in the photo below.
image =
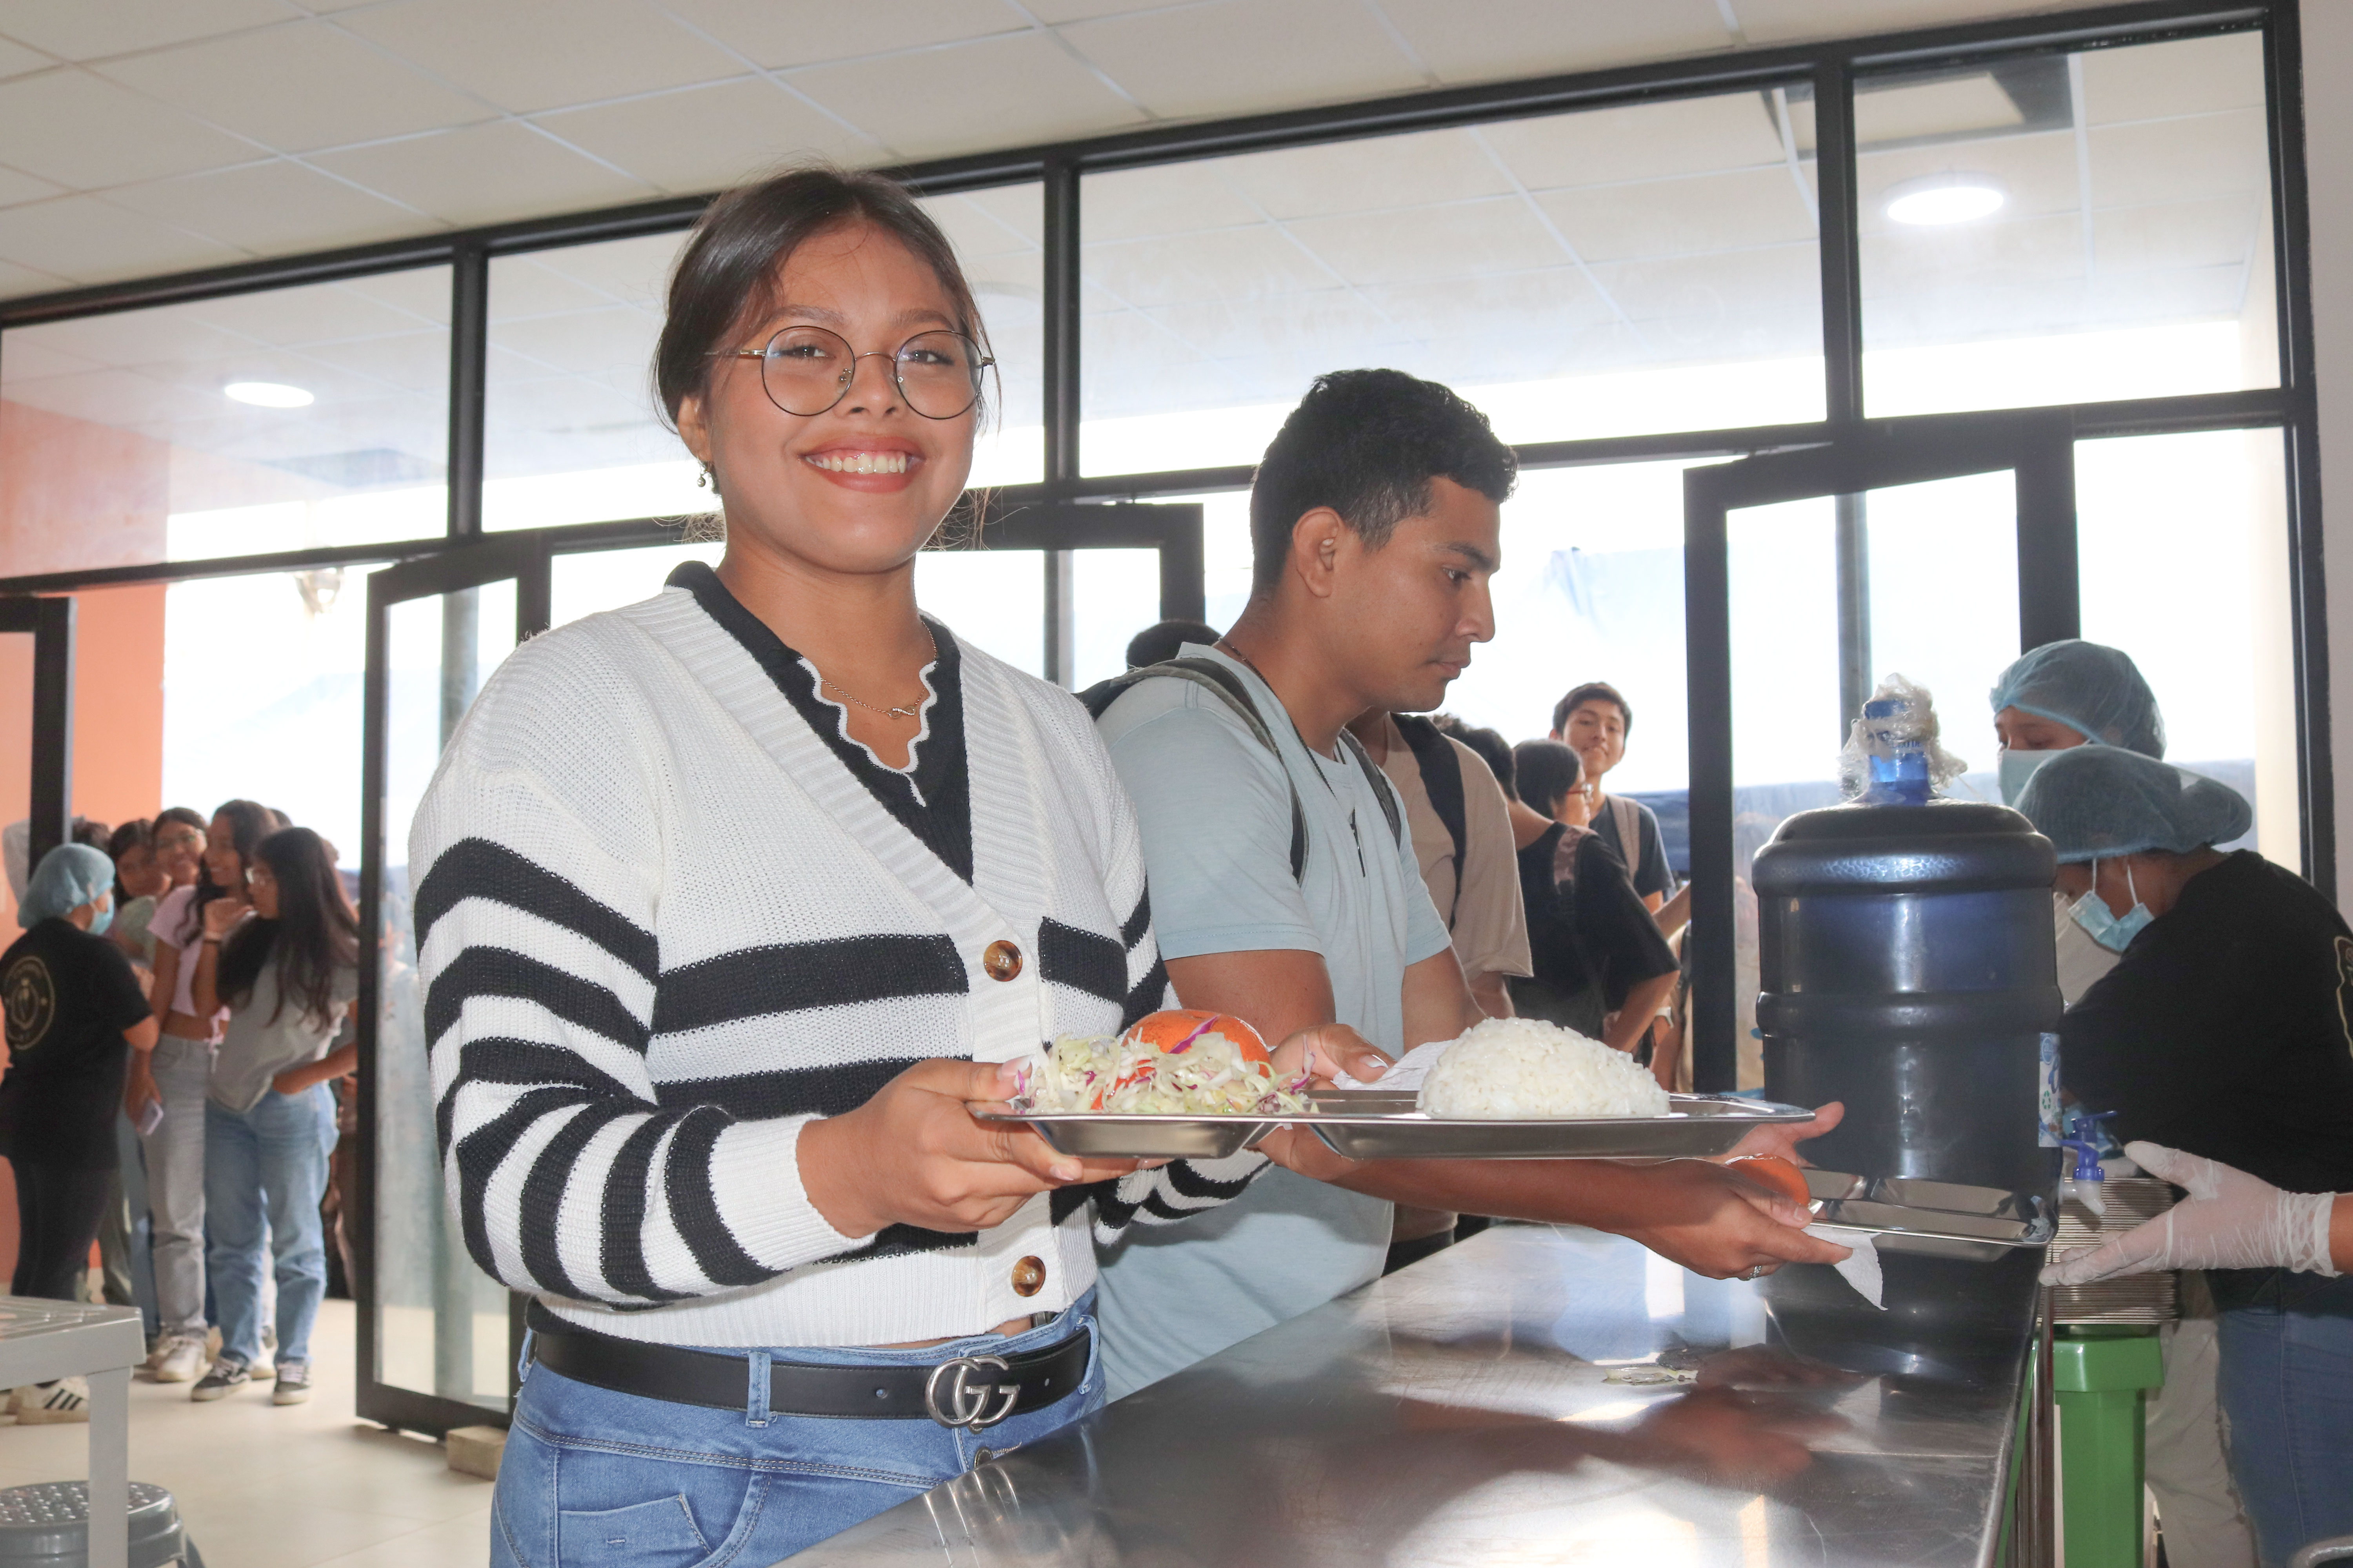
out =
[[[158,825],[174,825],[158,835],[167,867],[186,865],[191,816],[172,806],[155,818]],[[219,1009],[195,1004],[205,910],[221,903],[231,912],[247,907],[245,867],[268,832],[264,806],[221,802],[193,846],[195,879],[165,893],[148,922],[155,938],[148,1001],[162,1018],[162,1037],[153,1051],[132,1056],[122,1110],[146,1152],[148,1213],[155,1220],[155,1316],[162,1338],[148,1366],[158,1382],[188,1382],[205,1371],[205,1084],[212,1081],[212,1046],[221,1039]]]

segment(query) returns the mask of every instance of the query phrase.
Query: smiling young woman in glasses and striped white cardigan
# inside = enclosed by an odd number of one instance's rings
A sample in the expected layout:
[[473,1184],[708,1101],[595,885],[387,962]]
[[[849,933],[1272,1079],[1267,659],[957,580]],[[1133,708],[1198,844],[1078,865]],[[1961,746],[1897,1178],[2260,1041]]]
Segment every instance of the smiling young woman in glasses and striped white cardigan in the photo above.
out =
[[1094,1237],[1261,1166],[967,1110],[1167,1004],[1085,710],[915,607],[986,343],[899,186],[718,200],[654,378],[725,559],[518,649],[419,809],[445,1180],[536,1298],[494,1561],[765,1563],[1075,1420]]

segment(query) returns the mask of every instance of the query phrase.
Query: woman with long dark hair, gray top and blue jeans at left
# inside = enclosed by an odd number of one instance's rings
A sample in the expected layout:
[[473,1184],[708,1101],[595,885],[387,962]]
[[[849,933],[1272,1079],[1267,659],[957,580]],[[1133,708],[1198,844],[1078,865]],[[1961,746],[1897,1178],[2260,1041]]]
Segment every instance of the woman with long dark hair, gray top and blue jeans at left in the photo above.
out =
[[334,1095],[360,1046],[329,1051],[360,997],[360,917],[344,898],[334,853],[308,827],[254,846],[249,905],[205,910],[195,1001],[228,1025],[205,1098],[205,1272],[221,1309],[221,1354],[193,1399],[252,1380],[261,1359],[264,1220],[278,1258],[278,1389],[311,1399],[311,1324],[327,1293],[318,1201],[334,1154]]

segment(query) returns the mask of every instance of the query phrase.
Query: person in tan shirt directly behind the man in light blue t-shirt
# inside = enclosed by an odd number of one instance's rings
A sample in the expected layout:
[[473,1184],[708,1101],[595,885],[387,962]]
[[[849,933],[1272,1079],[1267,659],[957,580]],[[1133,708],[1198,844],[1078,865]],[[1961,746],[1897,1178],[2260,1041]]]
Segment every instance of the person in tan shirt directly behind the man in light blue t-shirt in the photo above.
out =
[[[1529,966],[1504,790],[1475,750],[1424,715],[1374,708],[1358,715],[1348,733],[1405,806],[1421,884],[1447,924],[1473,1001],[1489,1018],[1511,1018],[1506,985]],[[1381,1272],[1395,1274],[1452,1246],[1459,1218],[1452,1208],[1395,1204]]]

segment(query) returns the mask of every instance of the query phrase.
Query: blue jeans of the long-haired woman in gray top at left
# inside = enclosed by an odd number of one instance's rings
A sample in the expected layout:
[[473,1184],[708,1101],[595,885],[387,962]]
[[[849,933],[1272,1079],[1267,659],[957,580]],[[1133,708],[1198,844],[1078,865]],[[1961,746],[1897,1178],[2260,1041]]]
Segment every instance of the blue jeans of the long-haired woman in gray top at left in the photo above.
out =
[[334,1098],[325,1084],[299,1095],[273,1088],[247,1112],[205,1100],[205,1274],[221,1312],[224,1359],[261,1359],[264,1246],[278,1253],[278,1359],[311,1359],[311,1324],[327,1295],[318,1201],[332,1152]]

